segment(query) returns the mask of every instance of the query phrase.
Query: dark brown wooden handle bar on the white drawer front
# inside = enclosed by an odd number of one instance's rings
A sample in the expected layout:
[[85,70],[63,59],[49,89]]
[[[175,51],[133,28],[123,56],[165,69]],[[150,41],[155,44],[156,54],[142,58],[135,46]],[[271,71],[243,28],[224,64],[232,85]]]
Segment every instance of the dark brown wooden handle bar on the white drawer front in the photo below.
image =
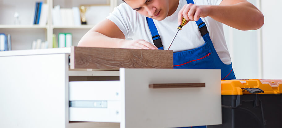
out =
[[149,88],[206,87],[206,83],[149,84]]

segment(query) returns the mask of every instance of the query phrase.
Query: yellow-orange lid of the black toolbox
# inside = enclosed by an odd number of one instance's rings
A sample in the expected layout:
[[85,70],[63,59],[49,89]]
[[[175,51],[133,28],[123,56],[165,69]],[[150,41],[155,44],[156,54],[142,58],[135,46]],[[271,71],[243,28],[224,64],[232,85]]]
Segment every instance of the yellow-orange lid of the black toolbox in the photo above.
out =
[[[250,93],[253,92],[253,93]],[[281,94],[282,80],[221,80],[221,95]]]

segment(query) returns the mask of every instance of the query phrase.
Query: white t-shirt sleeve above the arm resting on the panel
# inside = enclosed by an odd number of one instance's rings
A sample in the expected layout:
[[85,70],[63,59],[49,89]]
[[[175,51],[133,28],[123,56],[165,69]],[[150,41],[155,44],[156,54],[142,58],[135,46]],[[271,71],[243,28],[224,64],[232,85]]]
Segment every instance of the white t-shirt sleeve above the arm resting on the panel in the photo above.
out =
[[111,20],[122,31],[125,38],[131,38],[134,35],[136,28],[136,14],[126,3],[122,3],[115,7],[106,19]]

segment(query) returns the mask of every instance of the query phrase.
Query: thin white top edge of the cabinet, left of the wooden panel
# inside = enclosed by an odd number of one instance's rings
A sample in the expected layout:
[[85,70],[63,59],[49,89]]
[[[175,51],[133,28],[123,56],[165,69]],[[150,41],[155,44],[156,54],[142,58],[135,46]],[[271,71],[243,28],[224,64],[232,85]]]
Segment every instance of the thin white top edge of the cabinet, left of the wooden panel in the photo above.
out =
[[19,55],[42,55],[42,54],[70,54],[70,48],[50,48],[50,49],[32,49],[32,50],[15,50],[1,51],[1,56],[19,56]]

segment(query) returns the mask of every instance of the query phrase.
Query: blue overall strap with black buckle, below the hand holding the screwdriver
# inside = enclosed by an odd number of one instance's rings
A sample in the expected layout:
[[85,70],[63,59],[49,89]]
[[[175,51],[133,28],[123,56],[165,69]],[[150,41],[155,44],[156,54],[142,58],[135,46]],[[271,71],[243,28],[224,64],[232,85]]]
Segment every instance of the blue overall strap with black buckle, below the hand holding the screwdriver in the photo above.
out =
[[[187,4],[192,3],[194,4],[193,0],[186,0]],[[198,29],[204,39],[205,42],[207,42],[208,40],[210,40],[210,35],[207,31],[207,25],[205,24],[205,22],[203,22],[203,20],[200,18],[198,21],[196,21],[196,24],[198,25]]]

